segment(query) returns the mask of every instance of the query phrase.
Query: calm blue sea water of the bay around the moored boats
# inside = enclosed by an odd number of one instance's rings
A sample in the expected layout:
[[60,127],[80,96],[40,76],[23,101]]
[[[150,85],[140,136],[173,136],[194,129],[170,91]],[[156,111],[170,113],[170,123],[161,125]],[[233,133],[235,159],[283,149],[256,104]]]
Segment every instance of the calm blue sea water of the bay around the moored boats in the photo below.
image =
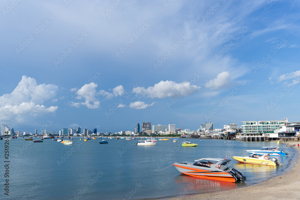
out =
[[[38,138],[35,138],[38,139]],[[99,144],[106,139],[108,144]],[[229,190],[256,184],[290,169],[297,149],[280,144],[289,152],[276,157],[283,166],[238,163],[232,156],[250,155],[245,150],[277,146],[276,142],[239,142],[235,140],[190,139],[197,147],[181,147],[170,140],[155,146],[137,146],[137,140],[73,139],[64,145],[52,139],[33,143],[24,138],[9,140],[9,196],[4,195],[4,164],[1,165],[0,199],[167,199],[176,196]],[[4,140],[0,140],[4,163]],[[182,175],[175,162],[198,158],[231,159],[231,167],[241,171],[247,181],[226,183]],[[169,167],[170,166],[170,167]],[[166,168],[166,169],[165,169]]]

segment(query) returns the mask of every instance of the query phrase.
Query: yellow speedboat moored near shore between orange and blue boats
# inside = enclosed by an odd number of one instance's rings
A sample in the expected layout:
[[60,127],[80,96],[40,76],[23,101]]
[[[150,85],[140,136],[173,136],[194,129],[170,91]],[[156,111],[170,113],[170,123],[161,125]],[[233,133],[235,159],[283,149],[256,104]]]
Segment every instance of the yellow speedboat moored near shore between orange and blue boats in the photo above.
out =
[[232,156],[232,158],[234,158],[240,163],[268,165],[268,166],[283,165],[283,163],[278,162],[276,158],[272,158],[272,160],[269,159],[269,154],[265,154],[265,155],[251,154],[250,156]]

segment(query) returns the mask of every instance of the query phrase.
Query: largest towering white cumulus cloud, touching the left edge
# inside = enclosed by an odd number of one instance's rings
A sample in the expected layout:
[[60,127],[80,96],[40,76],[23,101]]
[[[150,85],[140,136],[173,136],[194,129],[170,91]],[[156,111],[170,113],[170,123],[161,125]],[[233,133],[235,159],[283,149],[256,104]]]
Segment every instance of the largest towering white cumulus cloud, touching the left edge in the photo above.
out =
[[22,76],[12,93],[0,96],[0,120],[21,124],[29,122],[29,116],[54,113],[57,106],[46,107],[42,103],[53,99],[57,91],[56,85],[38,84],[34,78]]

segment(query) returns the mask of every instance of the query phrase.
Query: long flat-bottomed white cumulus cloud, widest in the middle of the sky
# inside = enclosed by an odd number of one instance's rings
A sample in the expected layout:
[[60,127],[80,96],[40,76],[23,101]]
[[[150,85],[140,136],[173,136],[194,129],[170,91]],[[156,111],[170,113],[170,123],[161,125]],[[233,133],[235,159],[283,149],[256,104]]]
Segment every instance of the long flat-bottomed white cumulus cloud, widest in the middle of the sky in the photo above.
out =
[[153,98],[166,98],[174,96],[189,96],[194,92],[200,90],[201,87],[191,85],[190,82],[176,83],[174,81],[160,81],[153,87],[134,87],[133,92],[138,95],[147,96]]

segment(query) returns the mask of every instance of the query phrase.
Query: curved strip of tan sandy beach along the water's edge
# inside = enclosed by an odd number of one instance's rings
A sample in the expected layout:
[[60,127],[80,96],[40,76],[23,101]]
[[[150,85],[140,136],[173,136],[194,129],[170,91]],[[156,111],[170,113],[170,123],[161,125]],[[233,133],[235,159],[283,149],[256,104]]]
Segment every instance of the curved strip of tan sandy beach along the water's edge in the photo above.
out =
[[[289,141],[286,144],[295,144],[297,148],[299,142]],[[299,154],[300,155],[300,154]],[[242,187],[233,190],[220,191],[215,193],[205,193],[193,196],[187,196],[183,198],[173,198],[172,200],[184,200],[184,199],[233,199],[233,200],[253,200],[253,199],[300,199],[300,165],[299,156],[297,162],[291,168],[290,171],[283,175],[274,177],[268,181]]]

